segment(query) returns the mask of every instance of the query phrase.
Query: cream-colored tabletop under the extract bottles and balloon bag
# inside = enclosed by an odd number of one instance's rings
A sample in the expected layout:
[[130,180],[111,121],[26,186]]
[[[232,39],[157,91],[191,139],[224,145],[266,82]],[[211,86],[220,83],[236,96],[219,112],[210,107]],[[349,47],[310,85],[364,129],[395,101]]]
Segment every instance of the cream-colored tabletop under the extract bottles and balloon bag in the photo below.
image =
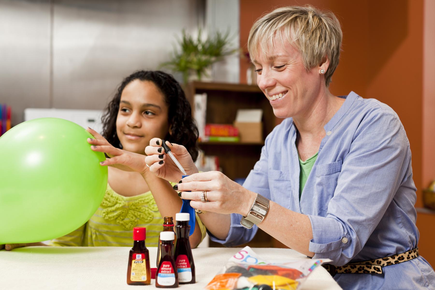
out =
[[[130,247],[24,247],[0,250],[1,289],[132,289],[126,282]],[[150,265],[155,267],[156,247],[149,247]],[[181,289],[204,289],[241,248],[194,249],[195,284]],[[306,258],[290,249],[254,248],[264,259]],[[151,285],[153,288],[155,280]],[[144,289],[147,289],[144,288]],[[329,273],[317,267],[301,289],[341,289]]]

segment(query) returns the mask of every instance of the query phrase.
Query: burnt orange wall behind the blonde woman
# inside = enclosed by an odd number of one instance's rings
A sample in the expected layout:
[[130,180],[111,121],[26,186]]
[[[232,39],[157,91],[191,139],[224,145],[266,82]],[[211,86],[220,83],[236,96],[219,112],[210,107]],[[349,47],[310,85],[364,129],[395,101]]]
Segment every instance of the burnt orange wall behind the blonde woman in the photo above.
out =
[[[244,52],[247,51],[249,30],[258,17],[277,7],[308,3],[331,10],[342,26],[342,52],[340,64],[332,77],[331,93],[346,95],[353,90],[362,97],[375,98],[388,104],[398,113],[411,144],[414,182],[418,189],[416,207],[422,207],[421,190],[427,186],[428,180],[435,178],[435,153],[433,149],[429,150],[435,147],[435,65],[426,67],[426,70],[432,71],[432,75],[426,79],[423,96],[423,6],[432,6],[432,10],[426,11],[433,12],[435,1],[240,0],[240,46]],[[434,17],[429,21],[433,25]],[[425,34],[428,36],[429,32],[432,33],[432,43],[425,44],[427,57],[432,57],[432,61],[433,31],[435,27]],[[430,56],[429,45],[432,45]],[[247,61],[241,59],[241,83],[246,83],[245,72],[248,67]],[[429,102],[432,102],[431,108],[426,106]],[[425,155],[423,178],[422,152],[429,151],[432,155],[428,156],[430,159]],[[429,167],[432,169],[428,169]],[[426,216],[422,221],[429,222],[427,219],[431,217]],[[432,217],[435,219],[435,215]],[[433,233],[426,233],[423,227],[420,232],[421,239],[430,237],[433,241],[435,238]],[[435,264],[434,250],[425,247],[423,252],[422,255]]]

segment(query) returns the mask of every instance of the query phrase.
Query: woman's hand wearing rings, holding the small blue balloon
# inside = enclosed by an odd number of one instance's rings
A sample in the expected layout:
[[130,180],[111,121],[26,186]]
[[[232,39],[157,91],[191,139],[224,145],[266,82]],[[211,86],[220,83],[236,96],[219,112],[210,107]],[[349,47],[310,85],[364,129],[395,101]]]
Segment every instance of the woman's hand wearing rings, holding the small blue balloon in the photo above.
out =
[[[239,213],[246,217],[257,193],[247,190],[219,171],[196,173],[184,177],[174,189],[181,198],[191,200],[191,207],[215,213]],[[186,191],[191,192],[186,192]],[[206,191],[208,202],[201,202],[201,192]]]

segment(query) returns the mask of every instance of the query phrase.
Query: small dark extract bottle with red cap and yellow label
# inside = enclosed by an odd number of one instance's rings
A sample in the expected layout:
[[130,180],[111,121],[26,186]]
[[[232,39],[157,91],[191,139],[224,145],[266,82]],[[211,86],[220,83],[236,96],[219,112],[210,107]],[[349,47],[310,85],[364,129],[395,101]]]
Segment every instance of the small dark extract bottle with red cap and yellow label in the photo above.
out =
[[146,229],[144,227],[133,228],[133,247],[128,256],[127,284],[150,285],[150,254],[145,247]]

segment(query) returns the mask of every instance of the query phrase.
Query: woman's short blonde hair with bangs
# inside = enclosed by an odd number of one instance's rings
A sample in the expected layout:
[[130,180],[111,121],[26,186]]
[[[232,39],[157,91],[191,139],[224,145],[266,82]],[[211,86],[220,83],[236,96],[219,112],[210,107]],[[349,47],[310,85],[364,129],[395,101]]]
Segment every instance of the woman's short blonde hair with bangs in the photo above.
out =
[[284,46],[285,41],[301,53],[306,70],[310,70],[329,58],[325,73],[328,87],[338,66],[341,39],[340,23],[332,12],[323,12],[310,5],[281,7],[260,17],[251,27],[248,51],[251,59],[258,55],[258,49],[266,57],[274,51],[274,39]]

